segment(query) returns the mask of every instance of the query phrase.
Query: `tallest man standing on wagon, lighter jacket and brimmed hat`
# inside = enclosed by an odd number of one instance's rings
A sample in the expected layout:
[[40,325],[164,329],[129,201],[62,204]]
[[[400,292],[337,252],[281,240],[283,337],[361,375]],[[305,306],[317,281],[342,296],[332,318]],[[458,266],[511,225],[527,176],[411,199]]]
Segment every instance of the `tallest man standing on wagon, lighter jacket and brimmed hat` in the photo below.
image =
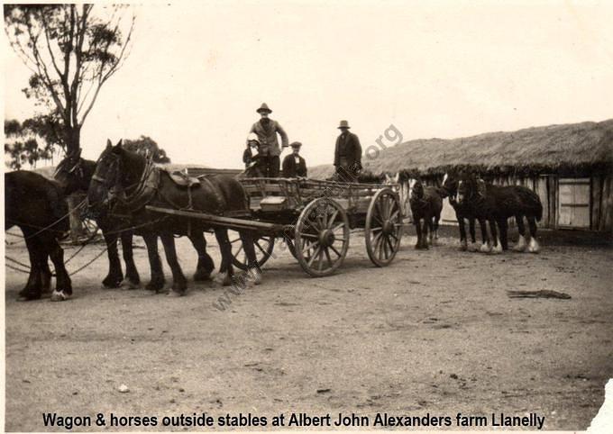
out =
[[266,103],[262,103],[256,112],[260,113],[261,119],[253,124],[250,132],[256,133],[260,140],[260,158],[266,171],[264,176],[277,177],[280,167],[279,155],[281,155],[277,134],[279,133],[279,136],[281,136],[283,148],[288,147],[288,134],[281,128],[279,122],[269,118],[272,110]]

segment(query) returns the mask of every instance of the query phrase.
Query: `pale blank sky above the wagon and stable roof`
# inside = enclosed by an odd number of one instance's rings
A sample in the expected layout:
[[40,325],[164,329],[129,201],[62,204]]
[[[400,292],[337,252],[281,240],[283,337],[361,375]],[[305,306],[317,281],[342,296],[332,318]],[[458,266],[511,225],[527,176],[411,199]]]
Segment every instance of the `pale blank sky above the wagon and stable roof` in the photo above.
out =
[[[207,1],[133,5],[133,47],[82,130],[150,136],[175,163],[242,167],[255,110],[307,165],[331,163],[340,120],[362,148],[613,117],[613,2]],[[5,119],[33,114],[5,38]],[[394,144],[382,141],[385,145]],[[288,153],[288,151],[285,151]]]

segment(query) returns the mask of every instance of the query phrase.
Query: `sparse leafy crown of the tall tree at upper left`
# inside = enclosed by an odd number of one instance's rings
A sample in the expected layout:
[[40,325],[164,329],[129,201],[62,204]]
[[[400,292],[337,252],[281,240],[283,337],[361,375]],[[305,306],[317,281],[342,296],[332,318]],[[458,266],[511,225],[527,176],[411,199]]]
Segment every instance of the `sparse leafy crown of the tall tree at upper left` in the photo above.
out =
[[78,151],[100,88],[127,57],[135,17],[124,19],[126,7],[94,14],[94,5],[4,6],[7,39],[32,71],[23,93],[43,111],[36,128],[67,153]]

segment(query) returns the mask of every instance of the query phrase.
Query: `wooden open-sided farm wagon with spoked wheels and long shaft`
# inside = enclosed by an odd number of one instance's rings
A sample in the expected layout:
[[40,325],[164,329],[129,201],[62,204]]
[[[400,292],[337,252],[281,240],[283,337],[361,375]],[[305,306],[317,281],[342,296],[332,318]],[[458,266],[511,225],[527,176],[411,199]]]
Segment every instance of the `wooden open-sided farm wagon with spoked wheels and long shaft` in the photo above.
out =
[[[273,257],[275,245],[285,243],[310,276],[329,276],[341,267],[354,229],[363,229],[366,251],[375,266],[388,266],[398,252],[403,215],[396,185],[268,177],[239,181],[247,194],[249,216],[147,208],[205,220],[233,231],[254,231],[260,267]],[[238,233],[235,235],[231,237],[233,264],[246,270],[242,242]]]

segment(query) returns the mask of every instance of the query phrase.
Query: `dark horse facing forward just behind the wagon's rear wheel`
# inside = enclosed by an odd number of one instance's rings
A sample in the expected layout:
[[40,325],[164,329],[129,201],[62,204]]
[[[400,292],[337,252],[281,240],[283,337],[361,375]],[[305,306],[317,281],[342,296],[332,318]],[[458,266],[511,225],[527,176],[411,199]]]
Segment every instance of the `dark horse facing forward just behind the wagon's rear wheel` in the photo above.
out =
[[438,222],[443,210],[443,197],[438,187],[424,186],[420,179],[412,179],[409,186],[411,188],[409,204],[417,231],[415,248],[428,249],[428,229],[430,244],[434,245],[434,241],[438,239]]

